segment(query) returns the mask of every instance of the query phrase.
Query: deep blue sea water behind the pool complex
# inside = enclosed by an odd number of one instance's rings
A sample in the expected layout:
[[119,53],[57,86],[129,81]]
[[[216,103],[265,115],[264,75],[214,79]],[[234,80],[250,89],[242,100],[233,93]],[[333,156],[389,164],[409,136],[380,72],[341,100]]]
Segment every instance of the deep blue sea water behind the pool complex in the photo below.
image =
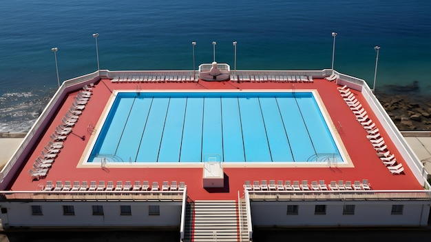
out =
[[0,132],[30,129],[61,81],[101,69],[193,70],[213,59],[238,70],[335,70],[376,90],[418,81],[429,95],[431,1],[14,0],[0,4]]

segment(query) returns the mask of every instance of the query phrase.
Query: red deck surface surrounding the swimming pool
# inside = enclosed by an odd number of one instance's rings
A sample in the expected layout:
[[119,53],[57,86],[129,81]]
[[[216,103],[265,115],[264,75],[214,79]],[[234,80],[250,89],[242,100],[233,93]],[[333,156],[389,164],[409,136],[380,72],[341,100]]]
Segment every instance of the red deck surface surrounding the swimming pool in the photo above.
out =
[[[391,174],[379,157],[377,157],[374,148],[370,141],[366,138],[367,132],[361,124],[355,119],[355,115],[348,108],[337,90],[337,85],[334,82],[326,81],[326,79],[315,79],[313,83],[237,83],[233,81],[199,81],[191,83],[113,83],[109,79],[102,79],[94,85],[93,94],[90,101],[85,106],[83,113],[79,117],[76,125],[72,129],[72,133],[67,136],[63,144],[63,148],[59,153],[55,162],[50,168],[47,177],[39,181],[32,181],[28,170],[32,167],[36,157],[41,154],[41,150],[50,141],[50,135],[54,132],[57,125],[61,123],[61,119],[66,114],[67,110],[72,106],[74,98],[81,90],[70,92],[64,100],[63,105],[59,108],[49,127],[45,130],[43,136],[40,137],[39,143],[34,145],[32,154],[28,155],[28,160],[23,165],[21,174],[10,183],[9,188],[14,191],[32,191],[41,190],[46,181],[157,181],[161,187],[162,181],[184,181],[187,185],[187,194],[193,200],[200,199],[236,199],[238,191],[242,193],[244,181],[248,180],[253,183],[256,180],[290,180],[299,181],[307,180],[308,184],[311,181],[325,180],[327,184],[330,181],[355,181],[368,179],[372,190],[421,190],[421,184],[414,177],[410,168],[401,158],[399,151],[395,148],[388,134],[383,130],[379,119],[372,113],[372,110],[361,92],[352,90],[362,106],[368,112],[368,117],[379,128],[379,132],[385,140],[388,150],[395,154],[398,163],[403,163],[404,171],[401,174]],[[88,132],[88,125],[96,125],[101,114],[111,97],[113,90],[317,90],[322,98],[324,106],[328,111],[329,119],[335,125],[341,123],[342,130],[339,132],[344,146],[348,152],[348,156],[353,162],[354,167],[289,167],[289,168],[274,168],[271,163],[262,168],[246,168],[244,163],[243,168],[224,168],[224,188],[203,188],[202,185],[202,168],[185,168],[180,163],[171,168],[110,168],[109,164],[105,169],[100,166],[97,168],[81,168],[78,167],[78,162],[84,156],[84,151],[87,143],[90,141],[92,134]],[[100,128],[100,127],[96,127]],[[337,130],[335,130],[337,132]],[[85,139],[81,137],[85,136]]]

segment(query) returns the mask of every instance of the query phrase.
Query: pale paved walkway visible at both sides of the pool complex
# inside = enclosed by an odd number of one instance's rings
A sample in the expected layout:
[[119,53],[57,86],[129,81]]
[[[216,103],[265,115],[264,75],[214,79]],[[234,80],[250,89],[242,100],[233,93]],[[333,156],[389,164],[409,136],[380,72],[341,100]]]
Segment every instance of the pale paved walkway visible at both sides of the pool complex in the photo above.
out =
[[[431,172],[431,132],[401,132],[410,148]],[[0,134],[0,168],[3,168],[10,157],[17,151],[25,134]]]

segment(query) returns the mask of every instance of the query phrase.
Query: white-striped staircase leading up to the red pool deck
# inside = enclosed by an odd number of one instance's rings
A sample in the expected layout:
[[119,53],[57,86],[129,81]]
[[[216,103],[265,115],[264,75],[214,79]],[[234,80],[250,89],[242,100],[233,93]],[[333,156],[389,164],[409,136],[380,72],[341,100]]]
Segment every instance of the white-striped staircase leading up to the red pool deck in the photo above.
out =
[[246,225],[245,204],[241,207],[244,211],[240,212],[233,200],[195,201],[187,208],[184,241],[249,241],[243,225]]

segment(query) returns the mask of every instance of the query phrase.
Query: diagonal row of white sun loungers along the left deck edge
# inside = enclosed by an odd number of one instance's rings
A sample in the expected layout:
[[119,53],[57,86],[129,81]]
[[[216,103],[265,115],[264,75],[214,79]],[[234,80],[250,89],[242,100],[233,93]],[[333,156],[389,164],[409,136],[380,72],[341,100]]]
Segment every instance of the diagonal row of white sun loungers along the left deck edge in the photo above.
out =
[[94,85],[85,85],[83,90],[78,92],[72,107],[66,112],[63,119],[61,119],[61,123],[56,126],[54,132],[50,135],[50,141],[45,145],[39,157],[34,161],[32,168],[28,171],[33,180],[39,180],[47,176],[57,155],[63,148],[63,141],[72,132],[72,127],[78,121],[79,115],[90,99],[92,86]]

